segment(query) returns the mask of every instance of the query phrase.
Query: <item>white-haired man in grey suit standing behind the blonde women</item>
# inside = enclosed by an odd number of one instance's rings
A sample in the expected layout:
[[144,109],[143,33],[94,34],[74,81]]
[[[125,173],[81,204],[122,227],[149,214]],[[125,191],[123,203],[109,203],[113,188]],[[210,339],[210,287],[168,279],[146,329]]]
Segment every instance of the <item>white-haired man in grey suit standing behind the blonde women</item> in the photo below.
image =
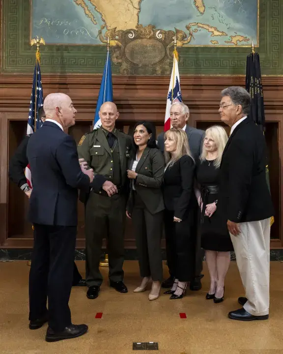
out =
[[[204,138],[204,131],[200,129],[193,128],[188,125],[188,120],[190,116],[190,111],[188,106],[182,102],[177,102],[172,104],[170,109],[170,123],[173,128],[183,129],[187,133],[189,146],[191,153],[195,159],[198,161],[198,157],[201,154],[202,141]],[[161,133],[157,139],[158,147],[164,151],[164,133]],[[193,233],[195,234],[196,239],[196,278],[190,283],[191,290],[200,290],[202,278],[202,261],[203,261],[203,250],[200,247],[200,237],[198,236],[198,202],[195,201],[195,222],[193,225]],[[166,241],[166,253],[170,253],[170,241]],[[174,282],[174,278],[171,276],[169,269],[170,277],[162,283],[163,288],[171,288]]]

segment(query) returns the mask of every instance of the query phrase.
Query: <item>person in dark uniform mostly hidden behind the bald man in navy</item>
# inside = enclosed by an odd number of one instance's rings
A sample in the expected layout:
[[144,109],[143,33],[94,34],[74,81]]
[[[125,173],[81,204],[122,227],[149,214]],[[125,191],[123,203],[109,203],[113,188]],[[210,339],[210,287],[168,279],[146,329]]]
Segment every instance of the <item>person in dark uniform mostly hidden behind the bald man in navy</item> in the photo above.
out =
[[[38,110],[37,118],[43,123],[46,116],[43,107]],[[31,134],[28,134],[21,144],[16,149],[9,163],[9,178],[16,183],[18,187],[30,198],[32,189],[28,186],[28,181],[25,176],[25,168],[28,166],[27,147]],[[82,278],[76,263],[74,262],[73,286],[85,286],[85,279]]]

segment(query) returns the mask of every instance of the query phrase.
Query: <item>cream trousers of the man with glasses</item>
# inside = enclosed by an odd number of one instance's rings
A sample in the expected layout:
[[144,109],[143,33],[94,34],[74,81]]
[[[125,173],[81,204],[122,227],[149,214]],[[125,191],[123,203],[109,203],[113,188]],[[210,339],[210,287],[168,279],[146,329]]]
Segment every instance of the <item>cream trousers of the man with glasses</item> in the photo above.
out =
[[270,218],[240,223],[240,230],[239,236],[230,236],[248,298],[244,309],[254,316],[268,315]]

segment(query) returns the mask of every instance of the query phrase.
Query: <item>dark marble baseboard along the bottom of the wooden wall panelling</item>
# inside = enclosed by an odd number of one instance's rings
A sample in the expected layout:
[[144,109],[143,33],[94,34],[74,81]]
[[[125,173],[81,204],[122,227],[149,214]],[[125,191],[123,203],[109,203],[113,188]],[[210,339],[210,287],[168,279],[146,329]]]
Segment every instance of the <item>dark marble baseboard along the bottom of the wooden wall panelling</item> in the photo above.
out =
[[[0,262],[12,262],[12,261],[25,261],[31,259],[31,249],[18,249],[18,248],[9,248],[9,249],[0,249]],[[104,259],[104,253],[102,253],[101,259]],[[75,259],[77,261],[85,261],[85,249],[76,249]],[[136,249],[126,249],[125,250],[125,260],[133,261],[137,260],[137,250]],[[166,251],[162,249],[162,259],[166,260]],[[235,261],[235,253],[231,252],[231,260]],[[272,249],[270,251],[270,260],[271,261],[283,261],[283,249]]]

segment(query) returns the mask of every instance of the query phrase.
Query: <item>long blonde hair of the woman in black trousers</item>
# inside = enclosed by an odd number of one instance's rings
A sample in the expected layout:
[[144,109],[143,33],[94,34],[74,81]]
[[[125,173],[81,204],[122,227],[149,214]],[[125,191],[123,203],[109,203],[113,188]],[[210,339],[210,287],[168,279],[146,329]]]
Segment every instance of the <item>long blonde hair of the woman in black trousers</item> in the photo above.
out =
[[[173,156],[170,152],[167,152],[164,149],[165,162],[166,162],[166,164],[168,164],[168,167],[172,166],[176,161],[178,161],[184,155],[188,155],[194,160],[194,158],[191,154],[190,147],[189,147],[188,137],[187,137],[187,134],[184,132],[184,130],[180,129],[180,128],[169,129],[164,134],[164,142],[166,141],[166,139],[168,138],[169,135],[171,135],[173,138],[173,141],[177,143],[177,147],[176,147],[176,155],[175,156]],[[195,162],[195,160],[194,160],[194,162]]]

